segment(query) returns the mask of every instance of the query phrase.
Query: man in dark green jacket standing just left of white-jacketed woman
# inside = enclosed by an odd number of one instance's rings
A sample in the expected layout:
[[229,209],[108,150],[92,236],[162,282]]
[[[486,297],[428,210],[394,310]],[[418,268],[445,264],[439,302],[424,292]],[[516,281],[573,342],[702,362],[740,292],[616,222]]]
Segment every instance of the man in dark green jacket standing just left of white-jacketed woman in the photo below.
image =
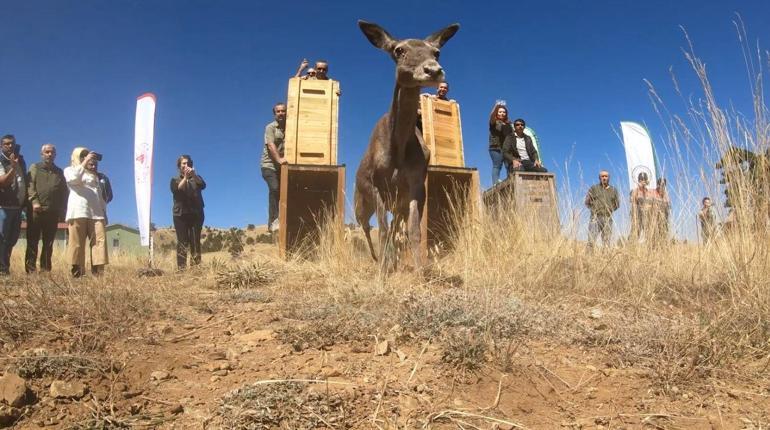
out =
[[29,167],[27,174],[27,250],[24,270],[33,273],[37,265],[38,242],[42,236],[40,271],[51,271],[53,242],[59,221],[67,211],[67,181],[62,169],[54,164],[56,147],[46,143],[40,148],[39,163]]

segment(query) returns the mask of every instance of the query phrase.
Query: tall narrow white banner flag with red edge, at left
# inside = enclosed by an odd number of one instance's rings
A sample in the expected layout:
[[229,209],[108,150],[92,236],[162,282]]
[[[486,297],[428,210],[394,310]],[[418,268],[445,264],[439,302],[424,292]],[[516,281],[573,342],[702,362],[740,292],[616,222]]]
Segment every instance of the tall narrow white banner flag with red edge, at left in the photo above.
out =
[[134,128],[134,185],[139,238],[150,246],[150,202],[152,201],[152,146],[155,137],[155,95],[146,93],[136,99]]

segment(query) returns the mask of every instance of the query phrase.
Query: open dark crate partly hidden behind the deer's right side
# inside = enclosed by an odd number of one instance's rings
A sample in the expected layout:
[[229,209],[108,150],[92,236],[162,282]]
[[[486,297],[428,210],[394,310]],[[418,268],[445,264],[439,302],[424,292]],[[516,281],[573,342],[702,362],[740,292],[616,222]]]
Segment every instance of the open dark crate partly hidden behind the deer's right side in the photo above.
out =
[[420,224],[424,257],[452,247],[451,233],[458,214],[480,209],[479,172],[475,168],[428,166],[425,206]]

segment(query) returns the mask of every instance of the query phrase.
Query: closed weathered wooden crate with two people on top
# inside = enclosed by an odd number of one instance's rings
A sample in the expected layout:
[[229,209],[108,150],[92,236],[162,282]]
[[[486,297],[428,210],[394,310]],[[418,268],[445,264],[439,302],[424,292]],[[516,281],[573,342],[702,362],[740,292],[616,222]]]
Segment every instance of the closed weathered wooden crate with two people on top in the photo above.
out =
[[488,210],[513,210],[526,226],[547,234],[559,231],[556,177],[553,173],[513,172],[505,181],[484,192]]

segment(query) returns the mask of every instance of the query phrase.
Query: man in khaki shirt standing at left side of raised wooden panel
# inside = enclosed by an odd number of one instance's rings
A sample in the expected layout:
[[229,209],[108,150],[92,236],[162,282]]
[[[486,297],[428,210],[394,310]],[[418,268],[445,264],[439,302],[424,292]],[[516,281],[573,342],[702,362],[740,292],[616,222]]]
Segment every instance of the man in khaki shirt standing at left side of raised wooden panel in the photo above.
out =
[[281,165],[287,164],[283,158],[283,143],[286,137],[286,104],[273,106],[274,120],[265,127],[265,145],[262,148],[262,178],[268,189],[267,230],[278,230],[278,200],[281,190]]

